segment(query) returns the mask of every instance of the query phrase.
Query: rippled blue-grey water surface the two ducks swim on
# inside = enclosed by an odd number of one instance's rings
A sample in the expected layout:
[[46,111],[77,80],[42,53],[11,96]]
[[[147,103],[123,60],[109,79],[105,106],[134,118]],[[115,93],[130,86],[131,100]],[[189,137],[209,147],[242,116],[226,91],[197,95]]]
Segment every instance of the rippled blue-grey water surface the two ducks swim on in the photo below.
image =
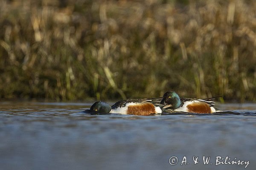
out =
[[[92,103],[0,102],[2,170],[242,170],[256,166],[256,105],[212,115],[90,115]],[[233,112],[229,112],[233,111]],[[176,156],[178,163],[169,164]],[[187,165],[185,164],[186,156]],[[199,163],[194,164],[193,156]],[[210,156],[204,165],[203,156]],[[181,161],[184,160],[181,166]],[[221,161],[221,160],[220,160]],[[212,163],[212,165],[210,165]]]

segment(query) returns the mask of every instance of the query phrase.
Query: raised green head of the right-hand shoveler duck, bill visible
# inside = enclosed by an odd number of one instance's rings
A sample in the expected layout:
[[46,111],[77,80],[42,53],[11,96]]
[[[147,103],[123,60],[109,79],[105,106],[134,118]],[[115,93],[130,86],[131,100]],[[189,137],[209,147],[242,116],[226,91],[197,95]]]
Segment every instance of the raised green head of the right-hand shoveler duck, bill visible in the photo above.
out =
[[167,91],[163,95],[161,104],[165,105],[163,108],[168,108],[173,110],[177,109],[181,105],[180,96],[175,91]]

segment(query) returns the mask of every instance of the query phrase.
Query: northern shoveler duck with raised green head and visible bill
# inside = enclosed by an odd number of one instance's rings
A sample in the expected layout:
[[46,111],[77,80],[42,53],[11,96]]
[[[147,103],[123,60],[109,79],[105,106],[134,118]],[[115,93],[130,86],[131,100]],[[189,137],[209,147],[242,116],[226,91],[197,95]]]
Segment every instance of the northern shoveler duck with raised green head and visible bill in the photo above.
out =
[[216,97],[207,99],[180,98],[175,91],[167,91],[160,102],[164,105],[163,112],[215,113],[219,112],[212,101]]

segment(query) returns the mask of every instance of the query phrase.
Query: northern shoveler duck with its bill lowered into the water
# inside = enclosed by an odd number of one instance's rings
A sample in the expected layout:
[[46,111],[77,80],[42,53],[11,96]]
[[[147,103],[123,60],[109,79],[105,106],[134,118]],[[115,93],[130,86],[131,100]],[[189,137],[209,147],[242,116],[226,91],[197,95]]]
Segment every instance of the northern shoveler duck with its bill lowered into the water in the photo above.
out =
[[100,113],[121,113],[134,115],[149,115],[162,113],[163,105],[160,104],[162,97],[152,99],[125,99],[110,106],[106,102],[95,102],[90,111]]

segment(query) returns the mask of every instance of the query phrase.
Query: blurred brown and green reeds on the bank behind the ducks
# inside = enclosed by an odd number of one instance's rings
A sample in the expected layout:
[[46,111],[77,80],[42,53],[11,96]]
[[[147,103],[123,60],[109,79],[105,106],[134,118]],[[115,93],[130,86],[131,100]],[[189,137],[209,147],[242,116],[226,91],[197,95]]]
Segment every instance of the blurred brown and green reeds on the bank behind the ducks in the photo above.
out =
[[256,101],[254,0],[0,0],[0,99]]

